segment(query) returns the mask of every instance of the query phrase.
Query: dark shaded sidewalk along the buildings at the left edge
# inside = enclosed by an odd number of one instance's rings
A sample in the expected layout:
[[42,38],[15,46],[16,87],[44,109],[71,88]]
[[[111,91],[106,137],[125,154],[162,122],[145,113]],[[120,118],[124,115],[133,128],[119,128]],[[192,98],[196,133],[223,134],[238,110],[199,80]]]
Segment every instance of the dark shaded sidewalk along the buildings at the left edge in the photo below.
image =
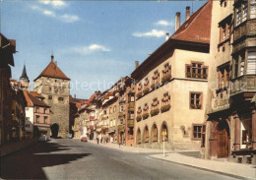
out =
[[13,153],[15,151],[25,149],[27,147],[32,146],[36,142],[38,142],[38,139],[23,140],[21,142],[9,143],[9,144],[3,145],[0,147],[0,156],[4,156],[9,153]]

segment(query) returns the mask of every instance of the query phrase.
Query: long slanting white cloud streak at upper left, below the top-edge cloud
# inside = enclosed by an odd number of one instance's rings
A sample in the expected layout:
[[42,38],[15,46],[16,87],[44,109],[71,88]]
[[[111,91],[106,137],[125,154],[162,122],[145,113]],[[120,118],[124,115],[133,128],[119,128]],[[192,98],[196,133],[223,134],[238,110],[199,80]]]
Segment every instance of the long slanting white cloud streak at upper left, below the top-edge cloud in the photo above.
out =
[[44,16],[57,19],[64,23],[75,23],[80,20],[79,16],[77,16],[77,15],[69,15],[69,14],[58,15],[54,11],[44,9],[39,6],[32,6],[31,8],[32,8],[32,10],[37,11]]

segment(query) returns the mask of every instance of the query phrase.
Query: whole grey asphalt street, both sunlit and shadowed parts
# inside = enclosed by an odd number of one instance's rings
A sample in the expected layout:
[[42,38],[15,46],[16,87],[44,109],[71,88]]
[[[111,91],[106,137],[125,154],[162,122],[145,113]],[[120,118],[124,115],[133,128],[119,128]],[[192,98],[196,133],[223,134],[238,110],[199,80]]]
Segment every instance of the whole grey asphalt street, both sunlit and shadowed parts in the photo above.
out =
[[3,179],[234,179],[79,140],[37,143],[1,159]]

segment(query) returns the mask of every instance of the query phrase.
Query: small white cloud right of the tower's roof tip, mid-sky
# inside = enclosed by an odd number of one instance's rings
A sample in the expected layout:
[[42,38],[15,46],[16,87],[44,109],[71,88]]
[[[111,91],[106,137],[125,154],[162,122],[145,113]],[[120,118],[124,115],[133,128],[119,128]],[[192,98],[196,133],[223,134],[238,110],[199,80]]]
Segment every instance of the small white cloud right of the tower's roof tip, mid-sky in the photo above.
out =
[[91,44],[89,46],[78,46],[78,47],[71,48],[71,52],[80,53],[82,55],[91,54],[96,51],[109,52],[110,49],[99,44]]

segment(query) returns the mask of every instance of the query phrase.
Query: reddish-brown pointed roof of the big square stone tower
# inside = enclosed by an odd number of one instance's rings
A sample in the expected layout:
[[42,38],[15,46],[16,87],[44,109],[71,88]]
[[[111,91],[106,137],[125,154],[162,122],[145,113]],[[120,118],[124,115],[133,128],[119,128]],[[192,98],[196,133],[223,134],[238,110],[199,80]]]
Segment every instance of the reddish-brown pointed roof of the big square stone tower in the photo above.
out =
[[70,80],[57,66],[57,63],[54,61],[54,56],[51,55],[51,61],[48,66],[41,72],[41,74],[35,78],[33,81],[37,80],[40,77],[49,77],[49,78],[57,78],[63,80]]

